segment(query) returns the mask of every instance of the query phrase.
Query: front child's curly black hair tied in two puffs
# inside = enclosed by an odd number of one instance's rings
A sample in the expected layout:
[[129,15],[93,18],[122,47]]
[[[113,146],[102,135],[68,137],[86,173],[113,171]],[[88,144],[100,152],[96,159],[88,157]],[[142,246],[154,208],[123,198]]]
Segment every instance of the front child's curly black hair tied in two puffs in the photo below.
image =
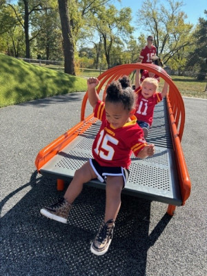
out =
[[124,109],[132,110],[135,106],[135,92],[130,87],[130,79],[127,76],[118,81],[112,81],[106,90],[106,102],[123,103]]

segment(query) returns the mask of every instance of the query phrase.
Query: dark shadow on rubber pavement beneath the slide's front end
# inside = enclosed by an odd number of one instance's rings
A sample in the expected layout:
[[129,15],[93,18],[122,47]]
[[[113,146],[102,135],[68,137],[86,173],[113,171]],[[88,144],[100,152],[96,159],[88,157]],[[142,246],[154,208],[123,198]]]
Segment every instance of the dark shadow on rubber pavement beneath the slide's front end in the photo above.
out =
[[[68,224],[43,217],[39,210],[64,193],[56,181],[39,177],[23,188],[31,190],[1,219],[0,274],[5,275],[146,275],[148,248],[155,244],[170,221],[164,215],[149,235],[150,201],[122,195],[114,237],[103,256],[90,253],[90,241],[97,234],[105,207],[105,191],[85,186],[75,201]],[[0,209],[0,210],[1,210]]]

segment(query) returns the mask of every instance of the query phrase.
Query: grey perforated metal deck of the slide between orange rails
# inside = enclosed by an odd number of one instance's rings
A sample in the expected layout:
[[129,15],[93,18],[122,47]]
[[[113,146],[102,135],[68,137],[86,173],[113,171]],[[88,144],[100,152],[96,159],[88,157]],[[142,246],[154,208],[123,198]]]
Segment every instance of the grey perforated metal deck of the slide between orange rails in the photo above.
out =
[[[148,142],[155,144],[155,155],[147,159],[137,159],[132,156],[130,177],[123,193],[181,205],[172,141],[169,134],[165,134],[170,131],[165,112],[164,104],[159,103],[155,109],[155,119],[147,139]],[[75,170],[92,157],[92,143],[99,126],[99,121],[92,124],[75,141],[48,161],[41,168],[41,174],[63,179],[73,177]],[[97,180],[90,181],[89,185],[105,188],[105,184]]]

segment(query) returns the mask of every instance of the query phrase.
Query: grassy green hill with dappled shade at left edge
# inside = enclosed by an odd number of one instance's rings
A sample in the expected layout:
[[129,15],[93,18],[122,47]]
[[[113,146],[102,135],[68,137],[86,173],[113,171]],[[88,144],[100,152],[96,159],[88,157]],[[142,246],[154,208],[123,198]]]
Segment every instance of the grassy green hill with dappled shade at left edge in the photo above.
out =
[[86,79],[0,54],[0,107],[86,90]]

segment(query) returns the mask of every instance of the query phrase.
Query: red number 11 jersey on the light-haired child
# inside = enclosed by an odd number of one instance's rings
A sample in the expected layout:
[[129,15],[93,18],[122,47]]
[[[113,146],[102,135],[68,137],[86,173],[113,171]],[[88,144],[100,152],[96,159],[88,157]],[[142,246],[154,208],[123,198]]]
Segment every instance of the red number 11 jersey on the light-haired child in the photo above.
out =
[[138,121],[146,121],[150,126],[153,121],[155,105],[162,100],[161,93],[156,92],[152,97],[145,99],[141,95],[141,86],[135,90],[138,95],[135,116]]

